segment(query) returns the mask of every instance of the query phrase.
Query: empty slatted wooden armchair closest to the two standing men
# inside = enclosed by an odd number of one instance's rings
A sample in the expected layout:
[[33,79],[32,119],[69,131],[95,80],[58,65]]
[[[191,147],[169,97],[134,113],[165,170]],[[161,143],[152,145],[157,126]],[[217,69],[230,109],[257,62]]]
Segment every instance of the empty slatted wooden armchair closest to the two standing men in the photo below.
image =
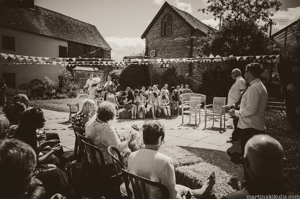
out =
[[[224,117],[224,128],[225,128],[225,104],[226,104],[226,98],[225,97],[214,97],[212,104],[208,104],[204,106],[204,115],[205,115],[205,125],[206,127],[206,117],[212,116],[212,127],[214,125],[214,117],[220,118],[220,128],[219,133],[221,133],[221,127],[222,127],[222,116]],[[212,110],[208,112],[207,108],[212,107]]]

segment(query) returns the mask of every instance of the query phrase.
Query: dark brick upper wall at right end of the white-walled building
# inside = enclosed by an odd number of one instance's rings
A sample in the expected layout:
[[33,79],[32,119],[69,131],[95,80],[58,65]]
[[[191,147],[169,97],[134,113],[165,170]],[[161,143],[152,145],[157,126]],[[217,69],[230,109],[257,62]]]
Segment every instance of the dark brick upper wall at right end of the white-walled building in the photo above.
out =
[[[78,57],[98,49],[98,47],[68,41],[68,57]],[[100,49],[94,53],[82,56],[87,58],[110,58],[110,50]]]

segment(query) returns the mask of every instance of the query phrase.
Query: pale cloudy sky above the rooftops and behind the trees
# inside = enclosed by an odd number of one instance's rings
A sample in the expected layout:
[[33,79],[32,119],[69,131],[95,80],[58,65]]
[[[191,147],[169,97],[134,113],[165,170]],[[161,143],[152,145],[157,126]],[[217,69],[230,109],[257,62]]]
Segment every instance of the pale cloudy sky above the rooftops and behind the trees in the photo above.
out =
[[[34,4],[93,24],[112,48],[111,58],[145,49],[140,36],[165,0],[34,0]],[[189,12],[203,23],[217,28],[218,20],[212,14],[198,12],[207,6],[207,0],[167,0],[179,9]],[[274,13],[276,25],[272,33],[300,17],[300,0],[280,0],[281,8]]]

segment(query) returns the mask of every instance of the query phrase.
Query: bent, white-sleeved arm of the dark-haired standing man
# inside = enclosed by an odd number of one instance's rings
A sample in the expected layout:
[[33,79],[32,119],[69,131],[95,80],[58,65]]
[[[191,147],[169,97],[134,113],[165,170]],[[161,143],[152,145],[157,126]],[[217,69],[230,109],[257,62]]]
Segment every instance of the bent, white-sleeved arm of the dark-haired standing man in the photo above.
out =
[[249,87],[245,95],[247,97],[246,106],[239,111],[234,112],[235,116],[237,117],[247,117],[249,115],[253,115],[257,110],[260,97],[259,88]]

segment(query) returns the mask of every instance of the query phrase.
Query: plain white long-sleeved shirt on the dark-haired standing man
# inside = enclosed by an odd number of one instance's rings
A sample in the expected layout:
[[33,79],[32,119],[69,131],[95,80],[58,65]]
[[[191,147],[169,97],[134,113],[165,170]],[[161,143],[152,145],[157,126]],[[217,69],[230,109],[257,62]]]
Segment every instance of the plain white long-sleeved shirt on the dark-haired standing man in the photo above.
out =
[[243,94],[239,111],[234,114],[239,117],[237,127],[240,129],[254,128],[265,130],[264,111],[267,105],[267,91],[262,82],[254,79]]

